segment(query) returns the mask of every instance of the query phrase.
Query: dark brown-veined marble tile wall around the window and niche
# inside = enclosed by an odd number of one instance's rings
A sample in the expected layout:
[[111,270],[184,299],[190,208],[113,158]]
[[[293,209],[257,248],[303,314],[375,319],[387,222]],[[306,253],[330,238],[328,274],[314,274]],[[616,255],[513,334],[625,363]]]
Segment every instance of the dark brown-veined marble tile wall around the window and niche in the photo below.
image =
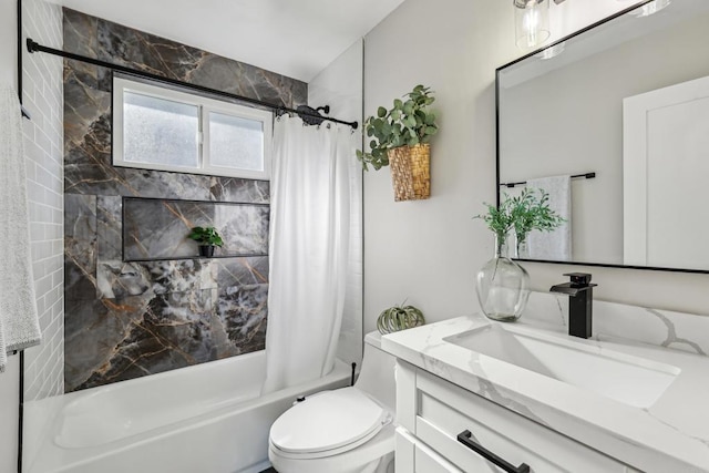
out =
[[[66,51],[275,105],[307,103],[304,82],[74,10],[63,9],[63,34]],[[66,392],[263,349],[269,183],[113,167],[111,153],[111,72],[65,61]],[[220,226],[224,255],[255,256],[192,258],[183,217]]]

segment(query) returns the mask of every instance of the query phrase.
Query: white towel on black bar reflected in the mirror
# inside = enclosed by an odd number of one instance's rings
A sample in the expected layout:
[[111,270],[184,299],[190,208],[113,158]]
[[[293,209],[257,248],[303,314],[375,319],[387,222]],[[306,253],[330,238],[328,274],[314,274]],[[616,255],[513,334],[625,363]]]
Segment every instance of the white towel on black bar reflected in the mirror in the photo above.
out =
[[571,261],[572,259],[572,178],[571,176],[528,179],[527,187],[542,189],[549,196],[549,208],[565,222],[552,232],[531,232],[527,236],[530,259]]

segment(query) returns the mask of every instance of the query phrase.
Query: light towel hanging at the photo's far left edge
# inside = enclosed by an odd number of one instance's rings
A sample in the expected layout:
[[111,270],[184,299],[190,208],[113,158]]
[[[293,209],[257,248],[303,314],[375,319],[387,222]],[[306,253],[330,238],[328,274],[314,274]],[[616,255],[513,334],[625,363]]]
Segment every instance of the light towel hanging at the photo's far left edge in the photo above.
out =
[[7,352],[41,341],[30,258],[30,222],[17,92],[0,84],[0,372]]

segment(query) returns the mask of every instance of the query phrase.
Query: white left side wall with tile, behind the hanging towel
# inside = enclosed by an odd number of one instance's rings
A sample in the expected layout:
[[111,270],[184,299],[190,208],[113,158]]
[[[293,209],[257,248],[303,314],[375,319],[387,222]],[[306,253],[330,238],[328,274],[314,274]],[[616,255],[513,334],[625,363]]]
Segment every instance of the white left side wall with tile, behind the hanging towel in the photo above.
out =
[[[0,82],[17,88],[16,0],[0,0]],[[40,42],[61,48],[61,10],[25,0],[23,24]],[[63,392],[63,99],[62,61],[25,60],[24,104],[30,244],[43,342],[25,352],[25,400]],[[2,212],[0,209],[0,212]],[[0,472],[16,471],[19,357],[0,374]]]

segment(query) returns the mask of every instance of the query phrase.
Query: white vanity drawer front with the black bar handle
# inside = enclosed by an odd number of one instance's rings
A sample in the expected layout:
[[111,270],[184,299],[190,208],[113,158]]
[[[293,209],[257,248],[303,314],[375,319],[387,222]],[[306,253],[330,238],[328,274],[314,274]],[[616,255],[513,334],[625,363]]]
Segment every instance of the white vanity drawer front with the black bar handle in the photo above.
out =
[[[470,440],[532,473],[625,473],[626,465],[458,385],[415,369],[415,412],[402,413],[418,439],[464,472],[500,471],[458,440]],[[411,415],[413,414],[413,415]]]

